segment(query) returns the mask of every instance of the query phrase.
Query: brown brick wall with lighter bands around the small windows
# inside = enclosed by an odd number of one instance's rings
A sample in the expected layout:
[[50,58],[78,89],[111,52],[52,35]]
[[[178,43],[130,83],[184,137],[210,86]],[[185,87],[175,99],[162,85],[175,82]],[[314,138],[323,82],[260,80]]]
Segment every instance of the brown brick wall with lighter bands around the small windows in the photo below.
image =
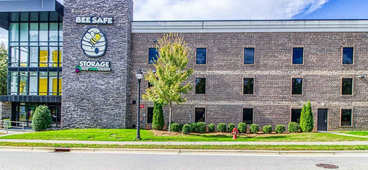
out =
[[[162,33],[132,34],[131,75],[141,69],[154,69],[147,64],[148,47]],[[194,74],[188,78],[195,88],[195,77],[206,76],[206,94],[187,95],[187,102],[174,105],[173,121],[188,123],[195,105],[206,105],[206,123],[242,121],[243,106],[254,107],[254,123],[260,126],[287,125],[290,107],[311,101],[314,130],[317,128],[317,108],[323,103],[328,109],[328,130],[368,129],[368,33],[367,32],[262,32],[262,33],[181,33],[191,47],[188,67]],[[195,64],[195,47],[207,47],[205,65]],[[255,47],[255,64],[243,64],[243,48]],[[292,65],[292,47],[304,47],[304,64]],[[342,47],[354,46],[354,64],[342,65]],[[358,78],[365,75],[366,78]],[[242,95],[243,77],[254,76],[254,95]],[[302,76],[303,95],[291,95],[291,78]],[[354,77],[354,95],[341,95],[341,77]],[[130,84],[131,100],[137,100],[137,79]],[[141,93],[147,81],[141,82]],[[141,100],[141,104],[152,104]],[[340,108],[353,107],[353,126],[340,127]],[[168,106],[164,107],[165,123]],[[141,116],[146,108],[141,109]],[[131,105],[131,124],[136,123],[137,104]],[[192,117],[192,120],[194,117]],[[131,124],[129,126],[131,126]],[[147,128],[150,125],[146,126]]]

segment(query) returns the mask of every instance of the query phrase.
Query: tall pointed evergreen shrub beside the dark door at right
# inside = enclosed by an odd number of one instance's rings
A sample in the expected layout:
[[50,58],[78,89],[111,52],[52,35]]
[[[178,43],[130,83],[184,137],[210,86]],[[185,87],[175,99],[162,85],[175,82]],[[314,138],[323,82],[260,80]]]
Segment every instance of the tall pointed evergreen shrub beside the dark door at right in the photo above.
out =
[[300,131],[311,132],[313,130],[313,113],[311,102],[307,103],[307,106],[303,104],[303,109],[300,113]]

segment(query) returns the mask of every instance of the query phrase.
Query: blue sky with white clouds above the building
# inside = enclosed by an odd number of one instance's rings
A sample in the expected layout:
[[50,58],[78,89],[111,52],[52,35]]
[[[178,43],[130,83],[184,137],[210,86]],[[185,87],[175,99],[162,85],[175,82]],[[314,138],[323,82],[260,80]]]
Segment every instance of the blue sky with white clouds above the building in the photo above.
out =
[[[368,0],[133,1],[134,21],[368,19]],[[1,42],[7,31],[0,28]]]

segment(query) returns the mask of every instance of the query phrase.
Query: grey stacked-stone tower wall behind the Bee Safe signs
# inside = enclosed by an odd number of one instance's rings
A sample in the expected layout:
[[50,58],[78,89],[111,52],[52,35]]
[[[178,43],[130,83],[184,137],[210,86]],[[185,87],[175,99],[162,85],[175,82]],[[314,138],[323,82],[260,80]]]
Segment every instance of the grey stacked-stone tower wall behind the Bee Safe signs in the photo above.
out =
[[[76,24],[76,16],[113,17],[113,24]],[[130,120],[132,0],[64,0],[61,128],[125,128]],[[87,57],[81,38],[98,27],[107,39],[102,57]],[[111,61],[110,72],[75,72],[80,60]]]

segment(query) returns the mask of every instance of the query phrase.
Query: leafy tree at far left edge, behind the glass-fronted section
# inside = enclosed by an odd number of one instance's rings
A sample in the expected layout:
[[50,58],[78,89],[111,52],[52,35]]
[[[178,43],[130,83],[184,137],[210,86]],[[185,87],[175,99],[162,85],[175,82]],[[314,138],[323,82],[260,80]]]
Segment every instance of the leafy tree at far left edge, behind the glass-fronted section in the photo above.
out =
[[7,91],[8,50],[4,43],[0,44],[0,95]]

